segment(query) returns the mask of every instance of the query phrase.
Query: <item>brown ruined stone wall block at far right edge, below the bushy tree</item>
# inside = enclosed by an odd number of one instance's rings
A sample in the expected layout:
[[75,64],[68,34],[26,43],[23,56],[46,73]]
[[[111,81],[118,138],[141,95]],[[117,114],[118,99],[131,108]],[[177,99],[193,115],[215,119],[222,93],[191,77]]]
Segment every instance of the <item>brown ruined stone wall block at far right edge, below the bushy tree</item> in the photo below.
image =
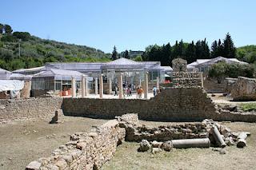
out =
[[256,101],[256,79],[247,77],[226,78],[226,91],[234,101]]

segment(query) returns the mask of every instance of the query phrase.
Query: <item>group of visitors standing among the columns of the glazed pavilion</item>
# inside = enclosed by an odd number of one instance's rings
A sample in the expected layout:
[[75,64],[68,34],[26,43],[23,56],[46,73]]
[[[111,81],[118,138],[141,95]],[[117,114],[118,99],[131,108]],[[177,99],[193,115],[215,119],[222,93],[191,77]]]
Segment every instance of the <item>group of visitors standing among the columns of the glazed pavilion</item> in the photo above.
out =
[[[135,90],[135,85],[131,85],[131,84],[128,84],[128,82],[125,82],[122,84],[122,89],[123,89],[124,97],[131,97],[132,91]],[[158,90],[155,86],[152,90],[153,90],[154,97],[155,97],[158,93]],[[137,85],[136,92],[137,92],[137,98],[141,99],[142,93],[144,93],[144,90],[142,89],[142,87],[140,85]],[[118,96],[118,85],[117,84],[114,85],[114,96]]]

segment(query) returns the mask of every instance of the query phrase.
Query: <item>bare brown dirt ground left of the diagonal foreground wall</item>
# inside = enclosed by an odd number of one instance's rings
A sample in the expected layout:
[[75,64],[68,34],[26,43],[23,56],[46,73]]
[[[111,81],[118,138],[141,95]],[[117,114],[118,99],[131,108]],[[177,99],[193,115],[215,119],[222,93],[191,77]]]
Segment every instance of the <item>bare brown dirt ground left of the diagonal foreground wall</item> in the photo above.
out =
[[64,117],[64,123],[22,121],[0,125],[0,169],[25,169],[30,161],[50,153],[70,140],[74,132],[88,132],[92,125],[106,120],[84,117]]

